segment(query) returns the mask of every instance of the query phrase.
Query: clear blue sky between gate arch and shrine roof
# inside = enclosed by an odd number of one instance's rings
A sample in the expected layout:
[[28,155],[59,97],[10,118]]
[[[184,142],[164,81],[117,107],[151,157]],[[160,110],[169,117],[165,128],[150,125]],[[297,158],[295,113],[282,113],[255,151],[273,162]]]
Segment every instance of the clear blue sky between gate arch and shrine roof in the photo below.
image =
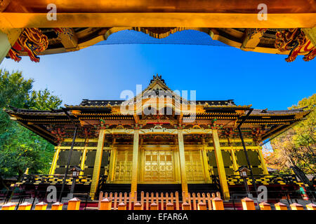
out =
[[63,104],[119,99],[122,90],[145,88],[159,73],[173,90],[196,90],[198,100],[282,110],[316,92],[316,59],[287,63],[286,57],[211,45],[96,45],[41,56],[39,63],[4,59],[0,68],[22,71],[35,90],[47,87]]

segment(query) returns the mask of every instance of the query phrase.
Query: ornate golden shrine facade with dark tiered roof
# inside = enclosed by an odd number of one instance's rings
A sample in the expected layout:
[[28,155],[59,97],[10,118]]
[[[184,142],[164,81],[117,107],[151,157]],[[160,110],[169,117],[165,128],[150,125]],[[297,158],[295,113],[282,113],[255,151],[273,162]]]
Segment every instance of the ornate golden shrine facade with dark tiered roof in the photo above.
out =
[[[26,175],[21,184],[60,186],[72,148],[69,165],[82,169],[76,189],[88,190],[92,199],[100,190],[220,190],[229,199],[231,192],[243,190],[237,169],[248,167],[246,156],[257,186],[298,186],[294,176],[284,179],[268,173],[261,142],[309,113],[251,109],[233,100],[188,101],[158,75],[126,101],[84,99],[63,109],[6,112],[55,145],[49,174]],[[248,182],[254,187],[250,178]],[[66,184],[70,186],[72,179]]]

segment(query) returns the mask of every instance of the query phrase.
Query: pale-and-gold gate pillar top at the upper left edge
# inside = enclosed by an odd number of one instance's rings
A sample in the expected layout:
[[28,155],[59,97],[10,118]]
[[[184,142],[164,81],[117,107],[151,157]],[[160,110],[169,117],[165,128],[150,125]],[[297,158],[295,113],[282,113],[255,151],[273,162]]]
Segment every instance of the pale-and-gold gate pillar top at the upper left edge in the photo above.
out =
[[18,40],[22,29],[6,29],[0,30],[0,64],[4,57],[8,55],[11,46]]

